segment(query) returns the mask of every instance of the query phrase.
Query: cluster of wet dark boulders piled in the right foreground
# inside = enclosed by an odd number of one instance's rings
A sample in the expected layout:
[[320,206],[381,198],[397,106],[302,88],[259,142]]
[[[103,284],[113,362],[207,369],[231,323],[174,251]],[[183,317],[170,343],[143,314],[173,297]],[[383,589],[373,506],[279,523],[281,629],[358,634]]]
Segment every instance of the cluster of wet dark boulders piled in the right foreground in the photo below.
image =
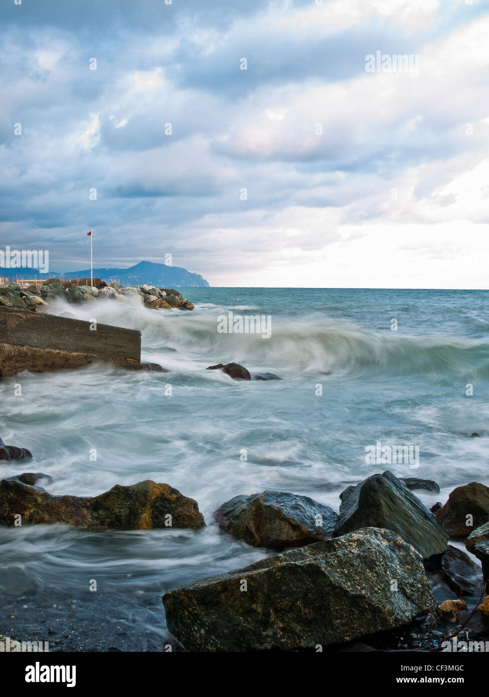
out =
[[[340,494],[339,515],[292,493],[232,498],[214,514],[225,533],[270,550],[299,549],[169,590],[170,631],[190,651],[317,650],[352,641],[353,650],[373,650],[358,640],[399,627],[408,632],[399,641],[409,642],[399,648],[436,650],[444,633],[435,627],[451,632],[466,621],[470,638],[489,640],[489,600],[472,616],[461,598],[479,593],[480,569],[447,546],[458,526],[488,581],[489,489],[458,487],[438,520],[412,493],[419,488],[439,491],[429,480],[372,475]],[[429,581],[440,578],[459,600],[437,605]]]

